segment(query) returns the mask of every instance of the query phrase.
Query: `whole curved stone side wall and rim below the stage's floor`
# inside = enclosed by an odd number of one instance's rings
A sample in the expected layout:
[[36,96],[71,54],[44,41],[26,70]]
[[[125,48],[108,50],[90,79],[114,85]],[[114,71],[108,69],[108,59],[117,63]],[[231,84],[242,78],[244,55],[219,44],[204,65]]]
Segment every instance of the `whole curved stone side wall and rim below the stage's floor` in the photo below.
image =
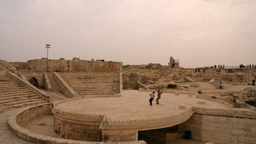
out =
[[127,121],[111,121],[108,116],[96,114],[82,114],[69,109],[61,109],[58,105],[69,103],[64,100],[54,104],[54,130],[61,137],[74,140],[97,142],[137,141],[139,130],[152,130],[171,127],[187,121],[192,114],[192,108],[181,107],[184,111],[155,119],[137,119]]

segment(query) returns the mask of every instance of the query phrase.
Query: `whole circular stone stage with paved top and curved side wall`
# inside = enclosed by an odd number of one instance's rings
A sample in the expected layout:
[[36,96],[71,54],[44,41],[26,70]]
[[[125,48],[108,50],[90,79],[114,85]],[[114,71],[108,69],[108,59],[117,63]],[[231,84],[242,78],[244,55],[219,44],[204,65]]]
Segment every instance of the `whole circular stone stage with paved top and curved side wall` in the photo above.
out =
[[230,109],[189,95],[163,93],[150,106],[150,92],[123,91],[121,97],[80,98],[54,104],[54,130],[64,138],[87,141],[137,140],[139,130],[162,129],[187,121],[192,108]]

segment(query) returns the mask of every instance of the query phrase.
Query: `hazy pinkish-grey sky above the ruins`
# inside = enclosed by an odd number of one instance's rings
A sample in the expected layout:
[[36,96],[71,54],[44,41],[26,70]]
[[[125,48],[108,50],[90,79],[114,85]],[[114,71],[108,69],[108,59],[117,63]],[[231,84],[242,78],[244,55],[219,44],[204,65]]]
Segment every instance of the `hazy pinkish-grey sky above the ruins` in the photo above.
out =
[[256,64],[255,0],[0,0],[0,59]]

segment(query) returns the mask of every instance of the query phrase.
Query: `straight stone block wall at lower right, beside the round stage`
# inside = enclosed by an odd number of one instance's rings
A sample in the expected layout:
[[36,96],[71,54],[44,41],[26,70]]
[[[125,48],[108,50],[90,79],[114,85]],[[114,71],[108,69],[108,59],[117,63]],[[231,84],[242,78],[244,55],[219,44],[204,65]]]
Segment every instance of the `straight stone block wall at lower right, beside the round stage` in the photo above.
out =
[[179,131],[184,132],[185,130],[192,131],[192,138],[202,142],[256,143],[256,117],[195,113],[189,121],[179,125]]

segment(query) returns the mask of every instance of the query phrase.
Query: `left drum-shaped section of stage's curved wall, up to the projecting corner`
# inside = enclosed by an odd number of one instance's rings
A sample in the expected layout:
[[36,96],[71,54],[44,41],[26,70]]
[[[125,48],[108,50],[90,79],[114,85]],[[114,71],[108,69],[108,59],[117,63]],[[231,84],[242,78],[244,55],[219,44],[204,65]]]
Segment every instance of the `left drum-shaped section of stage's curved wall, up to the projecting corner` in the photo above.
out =
[[[62,101],[61,103],[64,103]],[[59,104],[59,103],[58,103]],[[61,137],[72,140],[101,142],[100,124],[103,115],[77,114],[56,108],[54,104],[54,131]]]

